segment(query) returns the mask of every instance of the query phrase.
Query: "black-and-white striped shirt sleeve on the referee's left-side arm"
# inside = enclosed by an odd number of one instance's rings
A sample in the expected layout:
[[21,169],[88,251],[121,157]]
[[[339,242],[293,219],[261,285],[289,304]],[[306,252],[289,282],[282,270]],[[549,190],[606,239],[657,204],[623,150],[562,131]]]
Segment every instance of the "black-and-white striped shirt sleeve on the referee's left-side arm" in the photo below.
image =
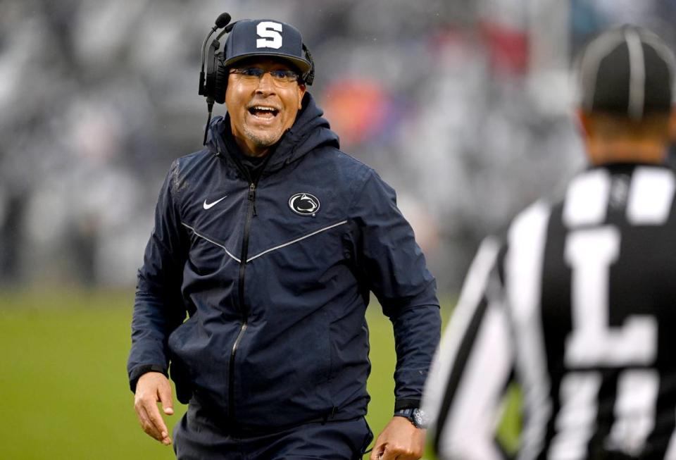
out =
[[496,428],[514,352],[498,254],[494,240],[480,247],[425,385],[427,446],[439,459],[506,458]]

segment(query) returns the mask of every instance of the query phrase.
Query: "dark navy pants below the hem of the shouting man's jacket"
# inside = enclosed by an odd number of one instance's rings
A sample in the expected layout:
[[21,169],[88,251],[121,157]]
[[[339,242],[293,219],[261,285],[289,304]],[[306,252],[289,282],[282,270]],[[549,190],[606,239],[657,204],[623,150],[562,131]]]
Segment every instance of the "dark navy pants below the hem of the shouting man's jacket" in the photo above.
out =
[[236,437],[211,423],[192,404],[174,428],[179,460],[361,459],[373,440],[363,417],[349,421],[306,423],[254,437]]

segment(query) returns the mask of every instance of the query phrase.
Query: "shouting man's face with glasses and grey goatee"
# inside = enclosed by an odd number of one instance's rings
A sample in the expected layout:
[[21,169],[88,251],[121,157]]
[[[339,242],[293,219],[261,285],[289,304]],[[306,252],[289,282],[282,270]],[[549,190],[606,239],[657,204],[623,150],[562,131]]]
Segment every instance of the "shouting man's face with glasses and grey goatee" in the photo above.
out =
[[[265,73],[260,77],[251,75],[256,73],[253,69]],[[244,153],[251,156],[267,154],[292,127],[305,94],[305,85],[275,78],[270,74],[275,70],[294,69],[284,61],[251,58],[234,64],[228,75],[225,104],[232,135]]]

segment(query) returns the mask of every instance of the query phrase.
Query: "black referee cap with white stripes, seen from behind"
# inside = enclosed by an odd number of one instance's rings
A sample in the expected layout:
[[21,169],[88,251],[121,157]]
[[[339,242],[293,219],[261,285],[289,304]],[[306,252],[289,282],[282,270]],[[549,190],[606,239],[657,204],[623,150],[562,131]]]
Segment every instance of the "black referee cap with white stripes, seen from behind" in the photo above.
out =
[[632,120],[668,112],[675,67],[672,51],[649,30],[624,25],[603,32],[580,59],[582,109],[624,113]]

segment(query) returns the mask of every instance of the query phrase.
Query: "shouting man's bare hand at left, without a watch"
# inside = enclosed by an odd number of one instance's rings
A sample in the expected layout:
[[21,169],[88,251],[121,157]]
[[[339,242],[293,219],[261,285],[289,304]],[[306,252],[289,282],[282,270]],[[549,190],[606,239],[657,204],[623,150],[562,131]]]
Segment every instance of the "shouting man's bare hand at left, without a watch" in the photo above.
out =
[[167,425],[165,425],[157,407],[158,402],[162,402],[162,409],[165,414],[170,416],[174,413],[169,379],[159,372],[141,375],[136,384],[134,410],[146,434],[168,446],[171,444],[171,438]]

